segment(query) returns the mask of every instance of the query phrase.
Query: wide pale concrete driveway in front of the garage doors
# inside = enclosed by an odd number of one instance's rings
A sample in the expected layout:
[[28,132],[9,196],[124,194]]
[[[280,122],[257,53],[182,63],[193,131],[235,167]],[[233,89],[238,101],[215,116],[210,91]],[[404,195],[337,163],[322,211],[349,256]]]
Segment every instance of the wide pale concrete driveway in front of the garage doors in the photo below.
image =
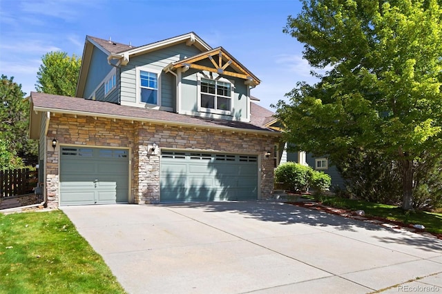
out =
[[278,202],[68,206],[128,293],[442,293],[442,241]]

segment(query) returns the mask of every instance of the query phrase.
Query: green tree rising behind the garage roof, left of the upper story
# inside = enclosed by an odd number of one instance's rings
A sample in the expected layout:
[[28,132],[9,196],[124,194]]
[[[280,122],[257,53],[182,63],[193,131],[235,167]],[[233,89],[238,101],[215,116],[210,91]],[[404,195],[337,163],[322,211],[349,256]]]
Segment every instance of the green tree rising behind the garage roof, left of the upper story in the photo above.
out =
[[38,92],[75,96],[81,58],[68,57],[66,52],[48,52],[41,58],[43,62],[37,72]]

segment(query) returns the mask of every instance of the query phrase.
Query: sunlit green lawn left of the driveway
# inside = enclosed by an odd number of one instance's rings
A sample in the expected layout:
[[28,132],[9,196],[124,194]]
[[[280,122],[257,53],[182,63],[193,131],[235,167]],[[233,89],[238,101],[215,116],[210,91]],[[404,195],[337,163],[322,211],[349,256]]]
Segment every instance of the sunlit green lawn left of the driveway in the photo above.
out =
[[61,210],[0,213],[0,293],[125,293]]

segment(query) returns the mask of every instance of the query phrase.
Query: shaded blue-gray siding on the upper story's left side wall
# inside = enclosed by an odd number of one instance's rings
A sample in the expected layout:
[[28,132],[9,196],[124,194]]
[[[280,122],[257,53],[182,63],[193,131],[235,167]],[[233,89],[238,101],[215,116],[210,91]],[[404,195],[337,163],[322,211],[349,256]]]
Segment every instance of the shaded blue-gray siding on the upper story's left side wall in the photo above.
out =
[[107,55],[102,50],[94,47],[83,98],[88,98],[112,69],[113,67],[108,64]]

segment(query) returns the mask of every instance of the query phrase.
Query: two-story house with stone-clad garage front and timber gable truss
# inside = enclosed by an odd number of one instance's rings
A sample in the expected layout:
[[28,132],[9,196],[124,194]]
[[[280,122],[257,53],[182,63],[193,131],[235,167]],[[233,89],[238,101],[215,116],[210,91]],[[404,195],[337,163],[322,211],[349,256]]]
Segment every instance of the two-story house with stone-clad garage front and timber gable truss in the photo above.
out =
[[260,80],[190,32],[129,46],[86,37],[77,97],[31,92],[49,207],[262,199],[280,132]]

